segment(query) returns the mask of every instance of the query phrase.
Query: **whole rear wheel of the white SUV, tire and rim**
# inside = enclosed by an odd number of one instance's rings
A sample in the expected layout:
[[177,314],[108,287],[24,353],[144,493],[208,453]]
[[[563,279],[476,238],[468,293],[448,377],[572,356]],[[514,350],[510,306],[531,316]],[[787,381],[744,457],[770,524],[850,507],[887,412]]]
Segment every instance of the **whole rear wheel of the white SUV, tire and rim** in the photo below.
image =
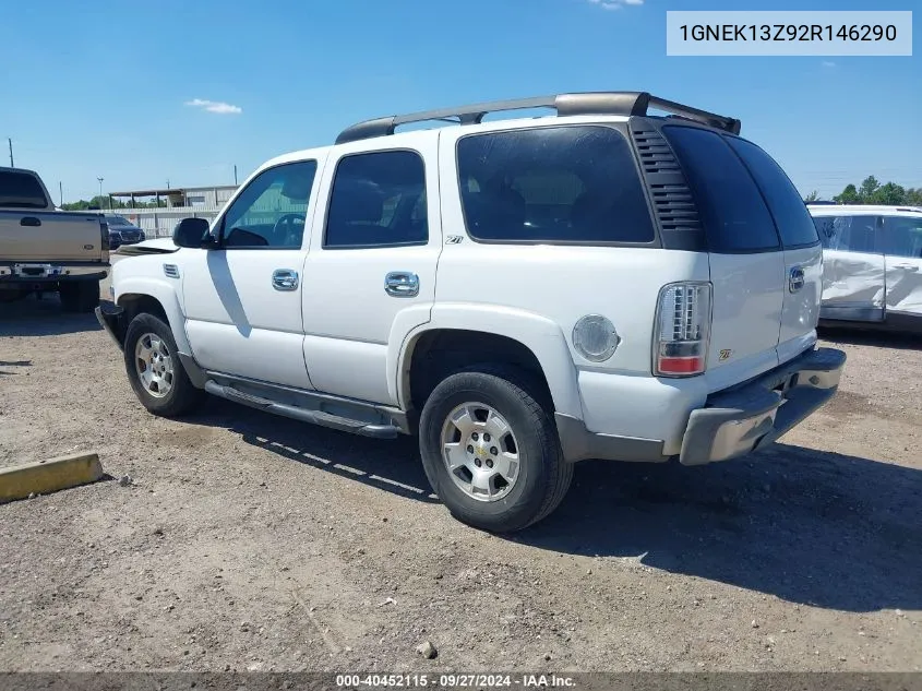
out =
[[513,533],[558,508],[573,464],[563,458],[552,406],[542,398],[524,372],[506,366],[467,369],[435,386],[420,417],[420,453],[433,491],[455,519]]

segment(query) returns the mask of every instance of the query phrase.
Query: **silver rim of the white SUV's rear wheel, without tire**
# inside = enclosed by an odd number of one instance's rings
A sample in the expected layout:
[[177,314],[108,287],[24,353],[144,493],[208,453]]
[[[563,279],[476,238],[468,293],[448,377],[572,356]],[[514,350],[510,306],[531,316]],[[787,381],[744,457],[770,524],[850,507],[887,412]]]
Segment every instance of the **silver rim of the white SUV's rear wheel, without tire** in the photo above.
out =
[[492,406],[457,406],[442,426],[441,446],[452,481],[471,499],[499,501],[518,480],[518,441]]

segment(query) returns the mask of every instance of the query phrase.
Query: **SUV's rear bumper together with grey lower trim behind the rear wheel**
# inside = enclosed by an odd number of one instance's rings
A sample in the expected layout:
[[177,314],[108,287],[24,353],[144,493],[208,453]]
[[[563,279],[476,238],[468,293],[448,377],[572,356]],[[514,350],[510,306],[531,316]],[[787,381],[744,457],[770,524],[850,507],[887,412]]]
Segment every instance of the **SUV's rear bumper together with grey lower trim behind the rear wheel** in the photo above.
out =
[[[707,396],[703,405],[693,407],[681,432],[679,462],[705,465],[770,444],[836,394],[845,364],[842,350],[813,349],[752,381]],[[662,410],[667,417],[676,414],[666,407]],[[656,463],[676,457],[667,451],[662,439],[591,432],[583,420],[561,414],[555,415],[555,421],[568,462],[602,458]]]

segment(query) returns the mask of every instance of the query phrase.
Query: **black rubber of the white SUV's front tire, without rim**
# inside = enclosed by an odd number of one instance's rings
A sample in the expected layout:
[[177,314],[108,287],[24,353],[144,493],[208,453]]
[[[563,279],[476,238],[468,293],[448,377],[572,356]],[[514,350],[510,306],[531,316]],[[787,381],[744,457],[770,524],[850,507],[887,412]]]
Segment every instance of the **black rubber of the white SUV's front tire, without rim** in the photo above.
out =
[[[137,342],[146,334],[156,334],[164,342],[172,365],[169,391],[160,397],[155,396],[144,386],[134,361]],[[172,337],[169,325],[153,314],[142,312],[128,325],[124,335],[124,368],[137,400],[154,415],[161,417],[185,415],[195,409],[205,397],[205,392],[196,389],[189,380],[185,368],[182,367],[182,360],[177,355],[176,339]]]

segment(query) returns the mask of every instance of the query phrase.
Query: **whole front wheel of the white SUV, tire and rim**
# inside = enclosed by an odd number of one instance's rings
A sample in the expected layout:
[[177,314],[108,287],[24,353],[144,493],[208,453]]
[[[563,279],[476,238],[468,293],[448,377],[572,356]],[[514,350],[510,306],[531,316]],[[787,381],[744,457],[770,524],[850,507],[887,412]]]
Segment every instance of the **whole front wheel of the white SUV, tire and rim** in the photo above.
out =
[[205,397],[189,380],[169,325],[153,314],[142,312],[128,325],[124,367],[137,400],[154,415],[179,417]]

